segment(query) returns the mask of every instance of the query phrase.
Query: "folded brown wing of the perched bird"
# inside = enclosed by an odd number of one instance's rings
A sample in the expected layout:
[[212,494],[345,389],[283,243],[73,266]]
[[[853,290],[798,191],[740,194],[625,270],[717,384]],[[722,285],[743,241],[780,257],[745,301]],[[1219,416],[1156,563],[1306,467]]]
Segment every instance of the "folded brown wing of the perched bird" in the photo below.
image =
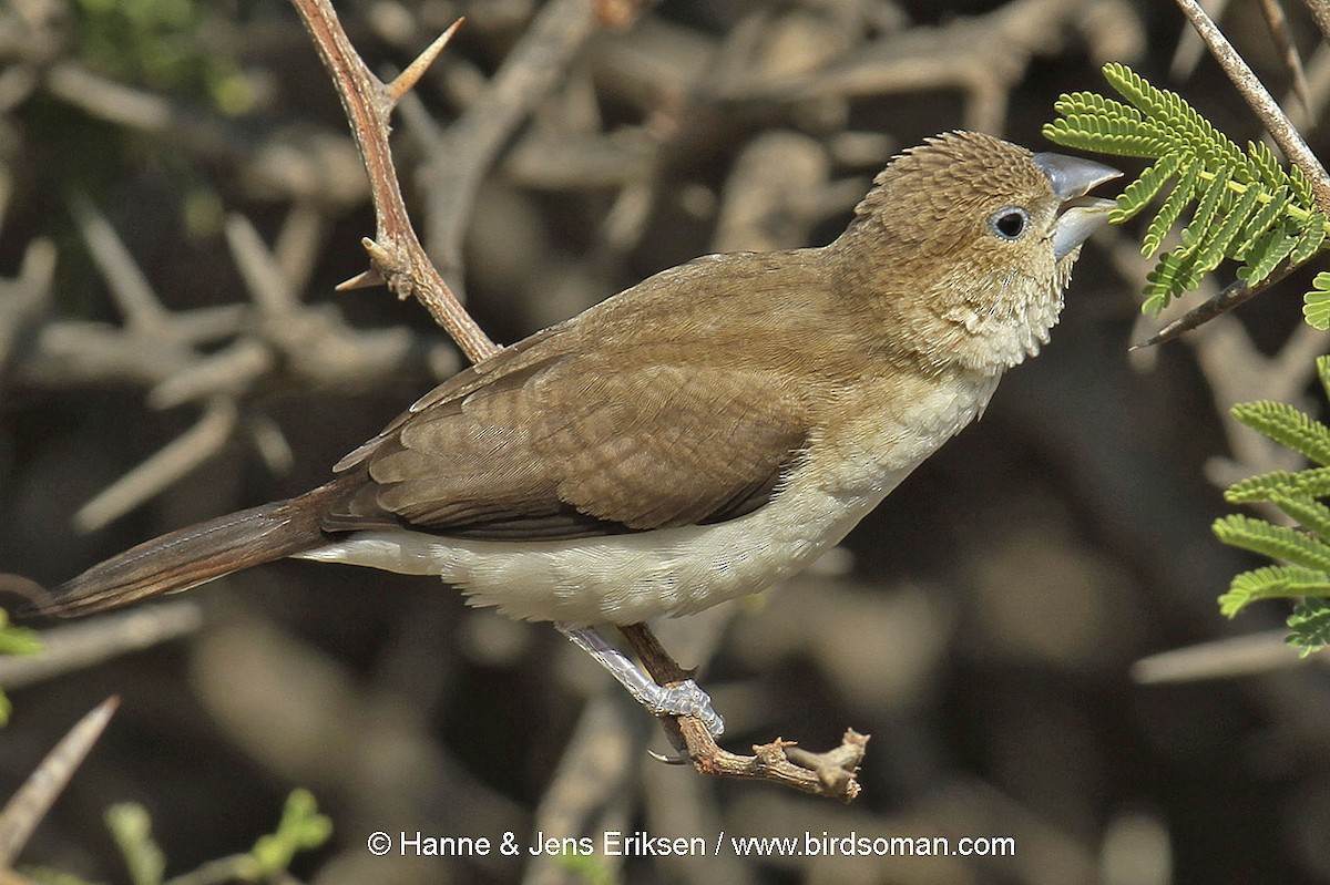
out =
[[801,404],[770,373],[658,360],[625,372],[524,347],[348,457],[364,481],[325,529],[572,538],[716,522],[766,502],[805,442]]

